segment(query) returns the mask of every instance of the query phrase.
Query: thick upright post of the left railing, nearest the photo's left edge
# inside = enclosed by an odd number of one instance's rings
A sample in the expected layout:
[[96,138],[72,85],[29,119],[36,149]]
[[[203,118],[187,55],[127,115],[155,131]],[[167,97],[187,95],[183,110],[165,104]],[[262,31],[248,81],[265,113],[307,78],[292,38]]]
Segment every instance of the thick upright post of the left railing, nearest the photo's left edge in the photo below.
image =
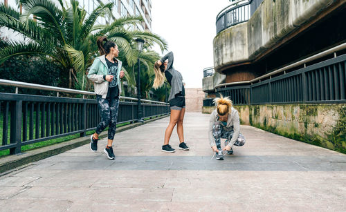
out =
[[22,122],[22,104],[23,101],[19,100],[13,102],[11,110],[11,132],[10,144],[16,144],[15,148],[10,148],[10,155],[19,154],[21,152],[21,122]]

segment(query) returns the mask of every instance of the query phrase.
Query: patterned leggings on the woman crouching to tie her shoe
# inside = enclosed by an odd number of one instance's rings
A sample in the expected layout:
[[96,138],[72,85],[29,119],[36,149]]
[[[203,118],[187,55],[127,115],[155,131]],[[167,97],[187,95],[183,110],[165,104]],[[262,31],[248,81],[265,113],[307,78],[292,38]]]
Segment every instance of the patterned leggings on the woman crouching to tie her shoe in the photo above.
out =
[[[230,142],[230,139],[233,137],[234,131],[226,131],[224,126],[220,121],[214,122],[212,125],[212,135],[215,139],[215,144],[217,148],[221,150],[221,138],[226,138],[226,143]],[[235,143],[232,145],[235,146],[243,146],[245,144],[245,138],[242,133],[239,133],[238,139],[235,140]]]

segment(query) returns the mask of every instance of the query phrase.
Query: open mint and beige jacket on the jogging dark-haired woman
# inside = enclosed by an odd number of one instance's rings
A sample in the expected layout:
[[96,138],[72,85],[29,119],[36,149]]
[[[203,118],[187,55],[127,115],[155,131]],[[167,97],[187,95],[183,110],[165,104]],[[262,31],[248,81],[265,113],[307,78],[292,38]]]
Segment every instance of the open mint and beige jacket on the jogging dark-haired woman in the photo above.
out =
[[[116,58],[114,60],[118,61],[118,74],[116,75],[116,80],[118,80],[119,95],[121,93],[120,84],[120,70],[122,62]],[[96,57],[91,65],[87,77],[94,82],[93,87],[95,94],[102,95],[102,99],[106,99],[108,93],[109,82],[104,80],[103,76],[108,75],[108,66],[106,62],[106,55]]]

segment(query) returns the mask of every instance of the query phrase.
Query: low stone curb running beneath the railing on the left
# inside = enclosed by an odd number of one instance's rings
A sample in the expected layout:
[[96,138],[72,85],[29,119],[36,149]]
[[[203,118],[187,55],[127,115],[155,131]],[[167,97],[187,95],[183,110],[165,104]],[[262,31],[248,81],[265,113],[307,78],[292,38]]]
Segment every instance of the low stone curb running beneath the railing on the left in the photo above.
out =
[[[162,119],[164,117],[167,117],[169,115],[163,115],[160,117],[156,117],[154,119],[148,119],[143,123],[134,123],[134,124],[128,124],[125,126],[120,126],[116,129],[116,133],[120,133],[122,131],[127,131],[131,128],[135,128],[137,126],[141,126],[143,124],[147,124],[149,122],[154,122],[158,119]],[[100,139],[107,137],[107,132],[104,131],[100,134]],[[51,157],[53,155],[57,155],[60,153],[64,153],[65,151],[69,151],[73,148],[83,146],[85,144],[89,144],[90,142],[90,135],[87,135],[86,137],[79,137],[76,139],[72,139],[68,142],[62,142],[60,144],[53,144],[51,146],[44,146],[42,148],[37,148],[32,151],[27,151],[24,153],[20,153],[19,155],[8,155],[3,158],[1,158],[0,162],[0,175],[5,175],[5,172],[12,172],[15,170],[12,169],[20,169],[19,166],[24,166],[26,164],[29,164],[31,162],[37,162],[39,160],[45,159],[46,157]],[[12,171],[11,171],[12,170]]]

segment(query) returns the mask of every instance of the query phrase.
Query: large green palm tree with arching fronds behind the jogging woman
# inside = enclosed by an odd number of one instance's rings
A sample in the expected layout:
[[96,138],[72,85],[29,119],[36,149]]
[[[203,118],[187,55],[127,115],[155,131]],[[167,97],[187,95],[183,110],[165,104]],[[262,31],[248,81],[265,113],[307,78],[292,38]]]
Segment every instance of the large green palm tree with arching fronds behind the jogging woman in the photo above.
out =
[[76,0],[71,0],[69,5],[62,0],[58,5],[51,0],[21,0],[18,3],[25,10],[23,15],[0,4],[0,26],[19,32],[25,41],[10,41],[1,48],[0,64],[17,55],[40,55],[62,68],[62,80],[69,81],[69,88],[84,90],[85,70],[98,54],[95,41],[100,35],[116,41],[129,66],[134,66],[138,56],[134,48],[137,37],[145,39],[147,44],[158,44],[162,50],[167,48],[158,35],[126,30],[126,26],[140,23],[140,17],[122,17],[106,25],[97,25],[98,17],[111,14],[113,3],[100,3],[89,17]]

